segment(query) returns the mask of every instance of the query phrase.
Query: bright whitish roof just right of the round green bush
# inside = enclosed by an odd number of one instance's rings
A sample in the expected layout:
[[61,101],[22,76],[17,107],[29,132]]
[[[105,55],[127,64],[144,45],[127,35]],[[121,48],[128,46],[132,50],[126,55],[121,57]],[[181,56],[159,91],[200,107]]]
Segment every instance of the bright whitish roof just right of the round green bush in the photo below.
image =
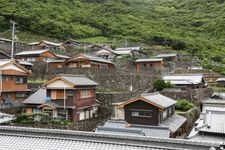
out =
[[203,80],[202,74],[192,75],[167,75],[163,76],[163,80],[171,84],[200,84]]

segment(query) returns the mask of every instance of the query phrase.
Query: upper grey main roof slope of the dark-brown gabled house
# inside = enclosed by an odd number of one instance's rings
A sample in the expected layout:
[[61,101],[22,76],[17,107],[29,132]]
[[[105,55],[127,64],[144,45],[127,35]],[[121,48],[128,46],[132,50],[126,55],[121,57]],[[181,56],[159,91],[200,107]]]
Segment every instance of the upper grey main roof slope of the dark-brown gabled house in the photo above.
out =
[[158,92],[155,93],[146,93],[146,94],[142,94],[141,97],[149,100],[150,102],[153,102],[163,108],[167,108],[170,107],[172,105],[176,104],[176,101],[166,97]]

